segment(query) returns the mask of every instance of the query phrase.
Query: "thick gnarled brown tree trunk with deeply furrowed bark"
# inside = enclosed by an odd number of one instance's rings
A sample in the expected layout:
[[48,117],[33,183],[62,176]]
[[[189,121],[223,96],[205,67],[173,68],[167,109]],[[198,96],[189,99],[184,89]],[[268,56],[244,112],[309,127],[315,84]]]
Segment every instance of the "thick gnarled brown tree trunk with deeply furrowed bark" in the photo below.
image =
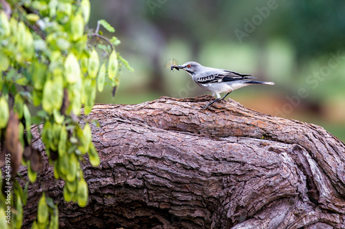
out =
[[[210,99],[95,105],[81,119],[100,124],[92,141],[101,164],[82,165],[88,206],[63,200],[45,162],[24,225],[45,191],[61,228],[345,228],[344,143],[233,100],[201,109]],[[37,129],[34,138],[43,153]]]

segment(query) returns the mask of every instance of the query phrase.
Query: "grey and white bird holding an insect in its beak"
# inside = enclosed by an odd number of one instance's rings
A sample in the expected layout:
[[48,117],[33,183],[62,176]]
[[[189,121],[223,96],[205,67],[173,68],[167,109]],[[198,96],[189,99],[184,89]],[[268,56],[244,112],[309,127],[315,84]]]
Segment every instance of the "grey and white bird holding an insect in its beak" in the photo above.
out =
[[[183,65],[170,65],[170,71],[173,71],[173,69],[183,69],[192,76],[193,81],[199,85],[199,87],[211,91],[213,96],[217,96],[215,100],[203,107],[204,109],[209,108],[210,105],[213,105],[213,103],[218,100],[224,100],[224,98],[235,89],[248,85],[275,84],[273,82],[250,80],[256,77],[253,77],[251,74],[241,74],[225,69],[205,67],[195,61],[188,61]],[[221,97],[221,93],[226,93],[226,95]]]

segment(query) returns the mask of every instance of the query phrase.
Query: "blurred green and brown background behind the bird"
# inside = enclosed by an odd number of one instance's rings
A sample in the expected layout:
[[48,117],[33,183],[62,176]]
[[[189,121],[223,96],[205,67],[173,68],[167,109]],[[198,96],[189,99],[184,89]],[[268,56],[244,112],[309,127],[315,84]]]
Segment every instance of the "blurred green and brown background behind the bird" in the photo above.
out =
[[[253,74],[275,86],[230,94],[246,107],[319,124],[345,142],[345,4],[342,1],[91,0],[90,28],[106,19],[135,72],[121,72],[115,98],[133,104],[160,96],[210,94],[178,64],[197,61]],[[104,31],[103,31],[104,32]]]

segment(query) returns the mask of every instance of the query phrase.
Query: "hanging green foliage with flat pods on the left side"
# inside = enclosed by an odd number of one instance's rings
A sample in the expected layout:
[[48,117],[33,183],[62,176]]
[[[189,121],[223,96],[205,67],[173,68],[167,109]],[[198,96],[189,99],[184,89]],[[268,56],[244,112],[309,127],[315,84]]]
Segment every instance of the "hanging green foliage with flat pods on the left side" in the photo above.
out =
[[[106,83],[116,87],[119,69],[132,69],[115,51],[119,39],[115,36],[108,39],[98,31],[102,25],[108,32],[115,32],[109,23],[99,20],[96,32],[86,30],[89,0],[9,3],[11,16],[0,12],[1,146],[5,141],[9,146],[19,145],[9,150],[11,160],[17,158],[18,164],[27,165],[28,179],[37,182],[41,154],[32,149],[30,131],[32,123],[42,124],[41,138],[54,166],[55,178],[62,178],[66,184],[63,197],[86,206],[88,185],[80,162],[86,154],[92,166],[98,166],[100,160],[91,141],[90,124],[81,127],[72,117],[80,115],[82,107],[85,114],[90,113],[97,88],[102,91]],[[89,41],[94,37],[97,41],[91,45]],[[39,111],[32,113],[30,106],[38,107]],[[16,170],[12,166],[12,174],[6,172],[6,177],[0,179],[7,186],[13,183],[9,204],[0,193],[0,228],[21,228],[23,221],[29,181],[23,181],[26,186],[22,188],[17,179],[11,179]],[[15,212],[10,224],[3,221],[8,205]],[[58,228],[59,214],[54,201],[43,193],[32,228],[48,226]]]

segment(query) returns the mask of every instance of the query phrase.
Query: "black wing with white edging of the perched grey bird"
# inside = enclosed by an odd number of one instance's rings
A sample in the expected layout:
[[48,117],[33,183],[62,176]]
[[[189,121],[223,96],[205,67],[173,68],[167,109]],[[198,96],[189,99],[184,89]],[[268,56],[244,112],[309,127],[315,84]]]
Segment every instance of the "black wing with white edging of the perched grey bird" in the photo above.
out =
[[244,80],[247,78],[255,78],[255,77],[248,77],[251,75],[248,74],[240,74],[238,72],[230,72],[227,70],[224,70],[224,73],[217,73],[217,74],[209,74],[207,76],[201,76],[197,78],[197,82],[201,84],[206,83],[221,83],[221,82],[228,82],[228,81],[234,81],[234,80]]

